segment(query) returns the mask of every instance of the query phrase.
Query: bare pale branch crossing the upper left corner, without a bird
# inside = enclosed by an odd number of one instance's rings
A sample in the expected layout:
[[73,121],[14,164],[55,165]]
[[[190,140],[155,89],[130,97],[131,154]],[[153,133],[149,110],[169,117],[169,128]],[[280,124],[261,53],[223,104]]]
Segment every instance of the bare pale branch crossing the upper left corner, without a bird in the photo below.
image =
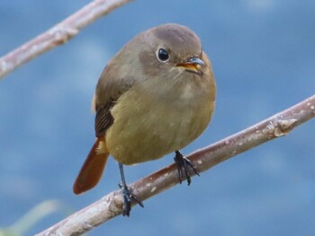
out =
[[63,22],[59,22],[48,31],[23,44],[20,48],[16,48],[4,57],[0,57],[0,79],[32,58],[39,57],[51,48],[66,43],[91,22],[128,2],[130,0],[94,0],[92,3],[85,5]]

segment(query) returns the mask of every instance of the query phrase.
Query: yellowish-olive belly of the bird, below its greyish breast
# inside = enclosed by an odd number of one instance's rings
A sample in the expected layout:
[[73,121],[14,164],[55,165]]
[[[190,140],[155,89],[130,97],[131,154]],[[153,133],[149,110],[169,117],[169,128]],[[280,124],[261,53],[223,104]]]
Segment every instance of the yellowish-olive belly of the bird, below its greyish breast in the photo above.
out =
[[211,118],[207,106],[196,109],[161,101],[132,103],[130,107],[130,98],[117,102],[112,109],[114,123],[105,136],[108,151],[122,164],[148,162],[183,148],[201,135]]

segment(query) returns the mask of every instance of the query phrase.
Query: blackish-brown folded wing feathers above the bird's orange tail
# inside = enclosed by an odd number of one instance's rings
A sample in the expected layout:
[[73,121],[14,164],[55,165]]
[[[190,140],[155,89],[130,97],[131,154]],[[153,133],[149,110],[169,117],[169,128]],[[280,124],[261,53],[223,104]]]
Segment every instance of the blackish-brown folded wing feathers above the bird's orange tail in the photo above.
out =
[[97,137],[105,135],[106,130],[112,126],[113,118],[111,109],[114,101],[108,101],[103,106],[96,106],[95,135]]

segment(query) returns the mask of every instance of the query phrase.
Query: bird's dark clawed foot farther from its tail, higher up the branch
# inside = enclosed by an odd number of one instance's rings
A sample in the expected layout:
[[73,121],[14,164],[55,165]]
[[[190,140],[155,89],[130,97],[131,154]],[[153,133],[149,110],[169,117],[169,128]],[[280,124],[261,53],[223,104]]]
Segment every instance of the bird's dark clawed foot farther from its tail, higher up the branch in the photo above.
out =
[[[174,161],[177,164],[179,183],[182,183],[183,178],[184,178],[183,174],[184,174],[187,178],[188,185],[191,184],[192,179],[190,178],[191,174],[189,173],[189,170],[188,170],[189,168],[193,169],[193,172],[199,176],[198,171],[195,170],[193,167],[193,163],[190,162],[188,159],[186,159],[184,155],[180,153],[178,150],[175,151]],[[183,169],[184,169],[184,173],[183,173]]]

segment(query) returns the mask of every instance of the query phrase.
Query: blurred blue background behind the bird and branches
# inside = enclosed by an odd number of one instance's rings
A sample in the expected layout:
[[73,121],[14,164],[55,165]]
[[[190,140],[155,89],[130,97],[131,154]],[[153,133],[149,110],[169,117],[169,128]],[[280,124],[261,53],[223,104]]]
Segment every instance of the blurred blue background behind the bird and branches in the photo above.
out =
[[[0,56],[89,1],[0,0]],[[147,0],[126,4],[66,45],[0,81],[0,227],[35,205],[65,206],[36,223],[41,232],[117,189],[117,163],[82,196],[72,185],[94,143],[91,100],[109,59],[140,31],[184,24],[202,39],[218,86],[210,127],[190,153],[315,92],[315,2],[311,0]],[[315,120],[134,207],[88,235],[313,235]],[[127,167],[128,182],[173,162],[173,155]]]

